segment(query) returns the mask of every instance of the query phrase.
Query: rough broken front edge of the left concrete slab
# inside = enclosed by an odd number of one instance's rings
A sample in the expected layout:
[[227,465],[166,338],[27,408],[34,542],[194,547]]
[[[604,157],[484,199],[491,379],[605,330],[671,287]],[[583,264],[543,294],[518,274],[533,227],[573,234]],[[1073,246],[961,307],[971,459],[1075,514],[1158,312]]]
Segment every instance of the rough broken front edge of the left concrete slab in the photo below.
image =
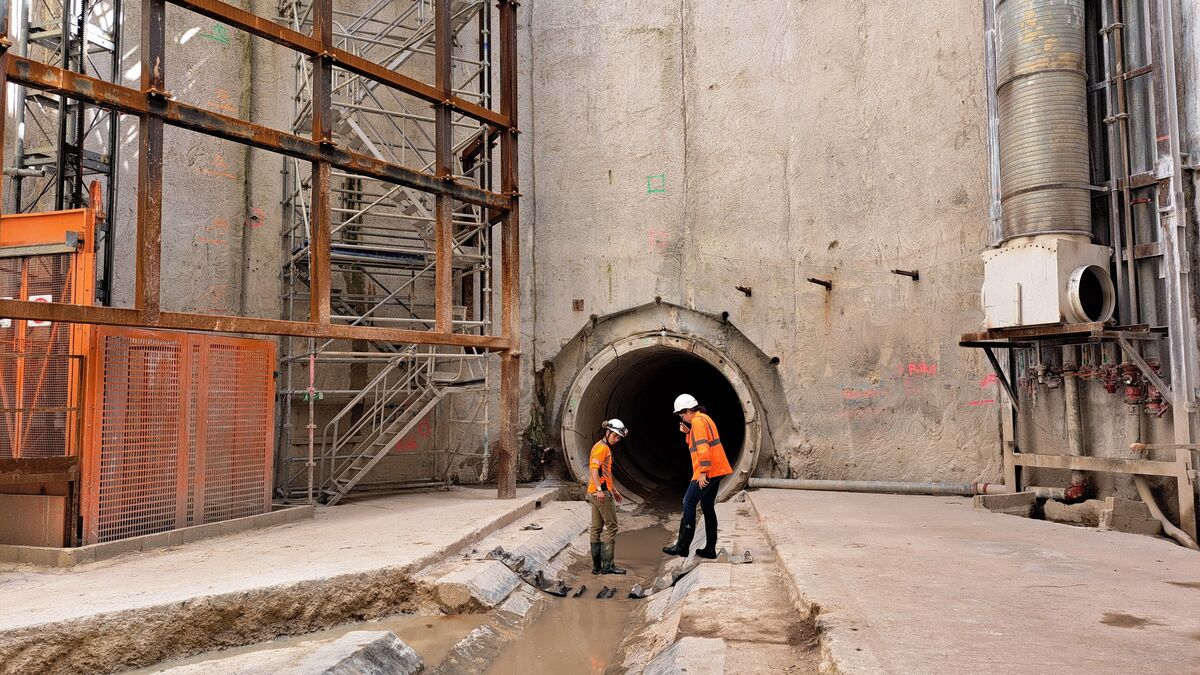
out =
[[[558,497],[551,492],[542,501]],[[96,614],[0,633],[0,674],[115,671],[319,631],[348,620],[436,611],[425,571],[524,518],[529,500],[442,549],[400,567],[341,574],[246,592]]]

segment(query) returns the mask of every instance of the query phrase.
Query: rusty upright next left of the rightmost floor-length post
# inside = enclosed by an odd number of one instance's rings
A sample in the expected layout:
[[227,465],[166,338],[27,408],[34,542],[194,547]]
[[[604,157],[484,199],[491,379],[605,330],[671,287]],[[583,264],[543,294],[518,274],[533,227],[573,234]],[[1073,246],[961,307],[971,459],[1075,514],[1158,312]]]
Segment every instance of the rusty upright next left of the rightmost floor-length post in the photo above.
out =
[[[434,82],[443,101],[448,101],[454,89],[451,68],[454,66],[454,32],[450,25],[450,0],[437,0],[434,4]],[[454,175],[451,165],[451,145],[454,145],[454,127],[450,124],[450,106],[436,106],[433,131],[434,175],[450,180]],[[450,197],[438,195],[434,204],[434,329],[449,331],[454,325],[454,204]]]

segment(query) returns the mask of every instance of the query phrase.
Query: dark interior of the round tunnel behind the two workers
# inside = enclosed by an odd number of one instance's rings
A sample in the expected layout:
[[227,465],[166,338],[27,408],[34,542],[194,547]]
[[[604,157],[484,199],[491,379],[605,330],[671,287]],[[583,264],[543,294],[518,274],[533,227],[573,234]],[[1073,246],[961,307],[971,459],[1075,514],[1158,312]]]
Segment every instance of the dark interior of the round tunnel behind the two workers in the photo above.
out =
[[620,418],[630,435],[614,452],[613,478],[646,498],[676,496],[691,478],[691,458],[672,412],[684,393],[708,411],[730,465],[736,465],[745,441],[738,394],[720,370],[683,350],[637,350],[604,366],[580,399],[575,428],[590,434],[590,447],[605,419]]

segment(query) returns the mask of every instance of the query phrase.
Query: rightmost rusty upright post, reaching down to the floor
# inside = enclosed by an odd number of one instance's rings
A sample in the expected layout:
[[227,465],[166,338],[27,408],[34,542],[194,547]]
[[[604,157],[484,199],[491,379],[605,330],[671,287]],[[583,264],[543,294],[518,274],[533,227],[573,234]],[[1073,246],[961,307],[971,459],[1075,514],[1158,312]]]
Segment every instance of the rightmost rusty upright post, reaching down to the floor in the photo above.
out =
[[[515,120],[517,112],[517,31],[515,0],[499,0],[500,14],[500,114]],[[517,202],[517,130],[500,136],[500,192],[511,199],[500,226],[500,333],[509,351],[500,359],[500,443],[496,483],[500,498],[517,494],[517,408],[521,387],[521,219]]]

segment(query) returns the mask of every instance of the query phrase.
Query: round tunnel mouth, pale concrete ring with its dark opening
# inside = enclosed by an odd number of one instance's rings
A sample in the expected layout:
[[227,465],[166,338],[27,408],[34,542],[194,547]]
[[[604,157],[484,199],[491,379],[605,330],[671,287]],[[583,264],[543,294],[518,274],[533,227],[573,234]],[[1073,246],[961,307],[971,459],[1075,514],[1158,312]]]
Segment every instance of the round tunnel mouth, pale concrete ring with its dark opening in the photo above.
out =
[[618,417],[629,425],[613,462],[617,486],[631,497],[678,496],[691,460],[672,414],[674,398],[695,395],[716,422],[733,476],[719,498],[742,489],[758,458],[755,399],[737,366],[694,339],[656,333],[618,340],[580,370],[564,402],[563,448],[576,479],[587,479],[588,450],[600,424]]

